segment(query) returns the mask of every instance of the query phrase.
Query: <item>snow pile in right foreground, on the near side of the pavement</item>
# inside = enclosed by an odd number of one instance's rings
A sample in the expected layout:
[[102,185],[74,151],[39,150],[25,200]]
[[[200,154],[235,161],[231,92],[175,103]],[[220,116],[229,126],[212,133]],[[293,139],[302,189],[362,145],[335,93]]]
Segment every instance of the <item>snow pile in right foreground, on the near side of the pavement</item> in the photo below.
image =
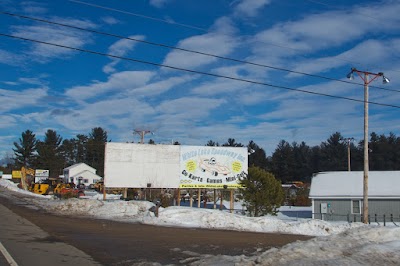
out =
[[[399,265],[400,228],[358,227],[346,232],[272,248],[255,257],[199,256],[190,265],[337,266]],[[195,260],[195,261],[193,261]]]

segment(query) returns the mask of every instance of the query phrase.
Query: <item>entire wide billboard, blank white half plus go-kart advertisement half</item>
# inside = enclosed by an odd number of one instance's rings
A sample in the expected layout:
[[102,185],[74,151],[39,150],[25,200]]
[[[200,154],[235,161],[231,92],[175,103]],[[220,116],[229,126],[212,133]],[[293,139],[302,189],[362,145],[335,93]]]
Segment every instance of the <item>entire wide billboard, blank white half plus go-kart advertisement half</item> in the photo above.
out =
[[246,147],[106,143],[109,188],[238,188],[247,176]]

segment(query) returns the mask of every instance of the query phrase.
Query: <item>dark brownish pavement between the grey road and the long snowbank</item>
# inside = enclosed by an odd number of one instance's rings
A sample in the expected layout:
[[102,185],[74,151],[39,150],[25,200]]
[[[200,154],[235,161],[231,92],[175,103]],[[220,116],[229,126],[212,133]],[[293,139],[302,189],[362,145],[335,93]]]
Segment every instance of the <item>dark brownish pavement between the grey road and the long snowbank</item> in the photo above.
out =
[[0,204],[44,230],[47,236],[43,241],[46,243],[67,244],[82,252],[81,256],[89,255],[91,259],[86,259],[92,263],[102,265],[151,262],[183,265],[186,259],[195,259],[199,254],[255,255],[271,247],[310,239],[300,235],[156,227],[56,216],[40,209],[26,208],[26,204],[7,197],[0,197]]

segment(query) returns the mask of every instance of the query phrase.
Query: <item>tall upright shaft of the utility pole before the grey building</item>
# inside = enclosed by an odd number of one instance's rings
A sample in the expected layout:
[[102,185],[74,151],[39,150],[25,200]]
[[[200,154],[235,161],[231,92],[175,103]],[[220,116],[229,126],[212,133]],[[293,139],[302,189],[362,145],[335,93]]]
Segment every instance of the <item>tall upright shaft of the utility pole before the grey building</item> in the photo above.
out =
[[368,223],[368,74],[364,73],[364,198],[363,222]]

